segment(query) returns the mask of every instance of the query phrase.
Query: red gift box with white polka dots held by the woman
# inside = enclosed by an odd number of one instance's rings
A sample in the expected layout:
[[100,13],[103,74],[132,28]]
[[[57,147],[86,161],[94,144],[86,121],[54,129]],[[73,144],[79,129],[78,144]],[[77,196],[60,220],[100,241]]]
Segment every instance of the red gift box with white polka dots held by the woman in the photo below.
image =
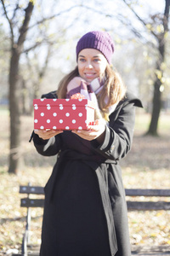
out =
[[87,99],[35,99],[34,129],[87,130],[94,103]]

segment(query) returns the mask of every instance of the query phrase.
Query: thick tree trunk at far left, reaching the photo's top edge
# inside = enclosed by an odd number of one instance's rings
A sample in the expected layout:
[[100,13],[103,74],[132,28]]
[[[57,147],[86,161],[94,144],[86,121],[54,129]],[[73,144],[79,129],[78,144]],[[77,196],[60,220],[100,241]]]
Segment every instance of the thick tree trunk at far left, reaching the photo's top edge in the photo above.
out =
[[11,46],[11,59],[9,70],[9,112],[10,112],[10,154],[8,172],[17,173],[20,160],[20,83],[19,83],[19,62],[20,55],[26,40],[29,22],[33,10],[33,3],[29,1],[25,9],[26,15],[23,25],[20,27],[18,42]]

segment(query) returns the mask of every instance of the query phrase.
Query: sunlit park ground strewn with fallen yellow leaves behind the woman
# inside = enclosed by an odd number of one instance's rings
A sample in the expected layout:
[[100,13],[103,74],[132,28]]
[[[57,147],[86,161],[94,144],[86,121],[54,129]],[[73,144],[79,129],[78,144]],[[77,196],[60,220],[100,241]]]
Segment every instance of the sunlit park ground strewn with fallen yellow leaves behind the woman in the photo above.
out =
[[[0,111],[2,113],[2,111]],[[44,186],[50,176],[55,157],[38,155],[32,143],[28,143],[32,131],[32,117],[22,117],[20,171],[8,174],[8,111],[3,110],[0,127],[0,255],[8,248],[20,248],[26,224],[26,209],[20,208],[19,186],[31,182]],[[137,114],[133,148],[122,160],[122,177],[126,188],[169,189],[170,187],[170,118],[162,114],[159,124],[160,137],[144,137],[150,121],[145,113]],[[142,200],[144,200],[142,198]],[[151,198],[150,200],[156,200]],[[164,198],[161,200],[167,200]],[[41,242],[42,209],[33,209],[31,242]],[[132,244],[170,244],[170,212],[128,212]]]

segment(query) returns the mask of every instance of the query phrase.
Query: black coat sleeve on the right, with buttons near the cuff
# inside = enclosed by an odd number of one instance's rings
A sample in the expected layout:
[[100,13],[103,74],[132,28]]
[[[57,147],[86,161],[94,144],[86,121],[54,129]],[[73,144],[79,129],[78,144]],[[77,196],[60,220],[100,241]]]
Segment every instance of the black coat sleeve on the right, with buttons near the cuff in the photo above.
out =
[[96,142],[92,142],[96,153],[110,160],[120,160],[125,157],[131,149],[134,122],[134,102],[127,102],[111,114],[110,123],[105,128],[104,143],[97,145]]

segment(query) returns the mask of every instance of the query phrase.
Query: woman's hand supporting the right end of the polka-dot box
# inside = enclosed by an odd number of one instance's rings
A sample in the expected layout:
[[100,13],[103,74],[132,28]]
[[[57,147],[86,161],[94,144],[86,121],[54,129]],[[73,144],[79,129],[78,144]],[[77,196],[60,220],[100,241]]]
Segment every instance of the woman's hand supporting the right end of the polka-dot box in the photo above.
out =
[[88,130],[72,130],[72,132],[85,140],[92,141],[97,139],[99,143],[103,143],[105,138],[105,121],[97,119],[94,125],[88,125]]

